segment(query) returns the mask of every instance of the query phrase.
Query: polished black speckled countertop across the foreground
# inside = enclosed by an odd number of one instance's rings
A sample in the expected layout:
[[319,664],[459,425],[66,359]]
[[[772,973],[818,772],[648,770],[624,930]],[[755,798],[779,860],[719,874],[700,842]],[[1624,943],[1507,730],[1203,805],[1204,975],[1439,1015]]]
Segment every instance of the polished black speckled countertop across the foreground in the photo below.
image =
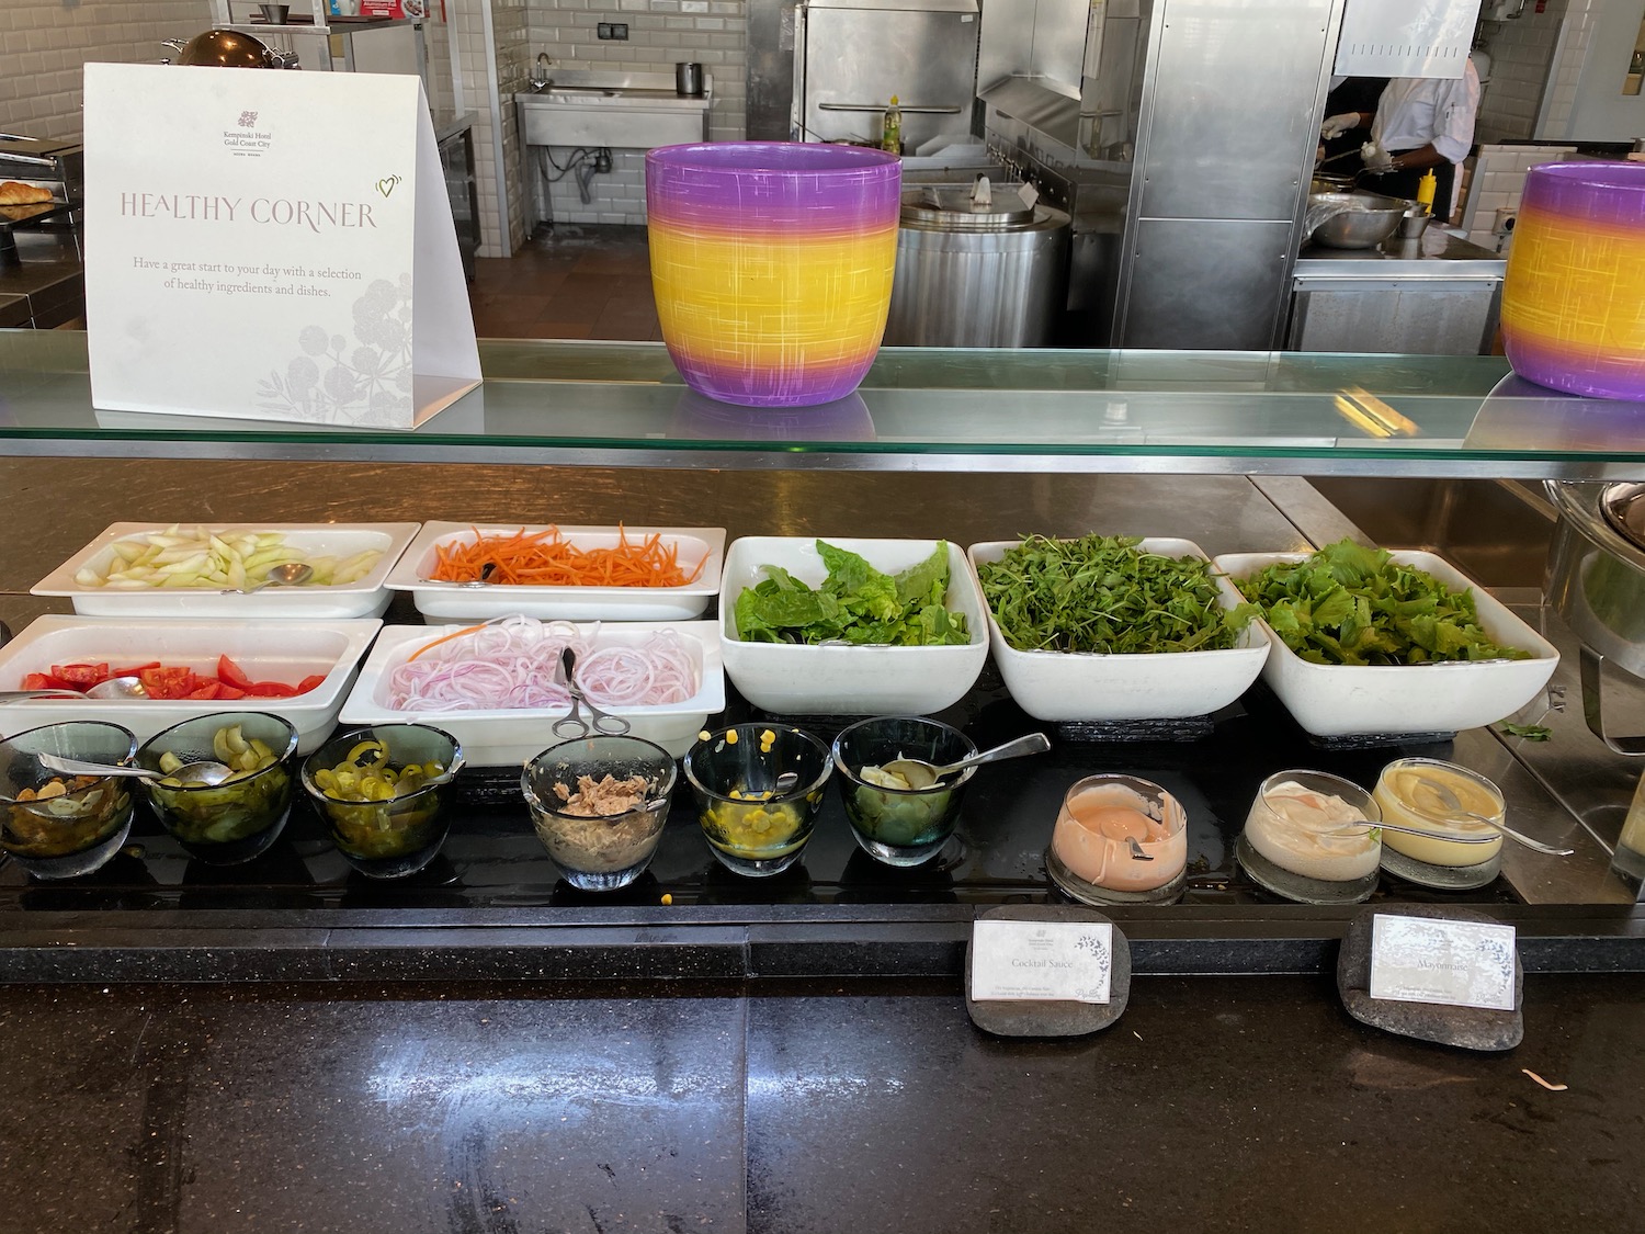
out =
[[1645,977],[1531,976],[1525,1020],[1421,1045],[1319,977],[1140,977],[1054,1041],[952,981],[12,986],[0,1227],[1637,1229]]

